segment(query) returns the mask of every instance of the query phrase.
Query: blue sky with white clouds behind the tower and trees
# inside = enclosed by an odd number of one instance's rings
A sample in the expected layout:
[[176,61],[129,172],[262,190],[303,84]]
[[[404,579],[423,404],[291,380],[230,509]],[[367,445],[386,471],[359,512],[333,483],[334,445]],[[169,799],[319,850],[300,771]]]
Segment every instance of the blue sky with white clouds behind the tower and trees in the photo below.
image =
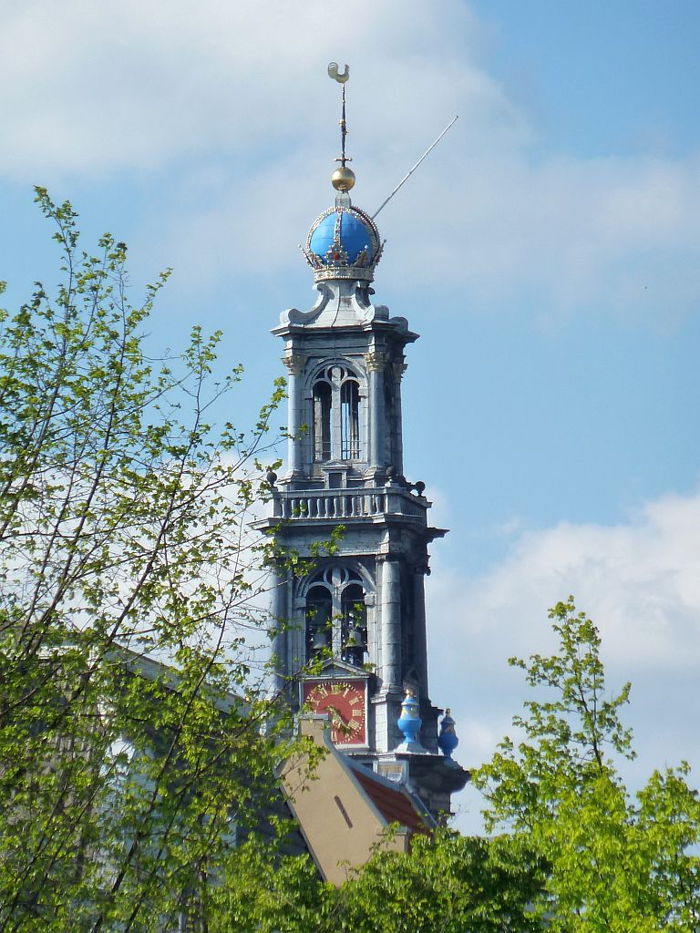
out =
[[[0,8],[0,278],[58,281],[33,186],[88,248],[130,245],[133,300],[174,272],[147,340],[222,328],[245,424],[282,374],[269,330],[314,303],[298,244],[332,202],[350,65],[354,202],[378,218],[376,301],[421,339],[405,469],[424,480],[431,700],[479,764],[553,648],[569,593],[609,689],[633,684],[638,786],[700,783],[700,6],[695,0],[24,0]],[[229,414],[230,412],[227,412]],[[478,829],[480,801],[455,798]]]

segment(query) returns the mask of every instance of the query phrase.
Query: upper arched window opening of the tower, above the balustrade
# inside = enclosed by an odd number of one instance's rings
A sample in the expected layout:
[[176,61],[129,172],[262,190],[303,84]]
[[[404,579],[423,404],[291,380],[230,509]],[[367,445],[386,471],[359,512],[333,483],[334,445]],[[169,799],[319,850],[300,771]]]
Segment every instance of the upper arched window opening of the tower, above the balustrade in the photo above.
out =
[[312,388],[314,460],[360,460],[362,456],[362,396],[357,375],[346,367],[329,366]]

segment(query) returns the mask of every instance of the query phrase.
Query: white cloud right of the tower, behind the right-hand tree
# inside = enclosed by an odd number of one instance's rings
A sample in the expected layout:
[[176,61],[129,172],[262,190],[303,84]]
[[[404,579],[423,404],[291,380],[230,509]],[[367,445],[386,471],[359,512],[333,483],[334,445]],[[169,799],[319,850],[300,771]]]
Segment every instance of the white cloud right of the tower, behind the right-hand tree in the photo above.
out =
[[617,525],[516,532],[505,559],[482,577],[434,564],[431,699],[453,709],[457,759],[477,764],[512,734],[527,688],[507,658],[553,650],[547,608],[574,593],[600,631],[609,691],[632,681],[623,717],[640,753],[633,787],[681,759],[700,768],[700,492],[665,495]]

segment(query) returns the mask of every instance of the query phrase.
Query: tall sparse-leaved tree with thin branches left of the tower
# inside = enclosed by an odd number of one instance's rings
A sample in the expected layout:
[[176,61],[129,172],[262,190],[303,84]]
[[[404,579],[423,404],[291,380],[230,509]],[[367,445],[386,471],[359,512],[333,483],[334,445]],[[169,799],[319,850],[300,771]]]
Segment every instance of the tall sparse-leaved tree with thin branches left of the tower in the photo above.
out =
[[285,754],[247,530],[284,386],[215,431],[218,335],[149,361],[167,275],[133,307],[124,244],[36,200],[63,282],[0,315],[0,930],[205,929]]

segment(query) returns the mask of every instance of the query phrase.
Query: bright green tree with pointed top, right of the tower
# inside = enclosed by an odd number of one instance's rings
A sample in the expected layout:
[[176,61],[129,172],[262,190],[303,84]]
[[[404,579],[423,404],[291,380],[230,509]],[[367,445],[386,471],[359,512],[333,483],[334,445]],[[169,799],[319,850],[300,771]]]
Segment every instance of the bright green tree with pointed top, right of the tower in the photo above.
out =
[[537,698],[473,780],[487,828],[504,829],[547,865],[534,906],[547,928],[579,933],[692,933],[700,924],[700,801],[689,768],[654,772],[632,796],[618,771],[632,759],[621,709],[629,684],[609,695],[594,623],[573,600],[550,613],[552,657],[511,659]]

